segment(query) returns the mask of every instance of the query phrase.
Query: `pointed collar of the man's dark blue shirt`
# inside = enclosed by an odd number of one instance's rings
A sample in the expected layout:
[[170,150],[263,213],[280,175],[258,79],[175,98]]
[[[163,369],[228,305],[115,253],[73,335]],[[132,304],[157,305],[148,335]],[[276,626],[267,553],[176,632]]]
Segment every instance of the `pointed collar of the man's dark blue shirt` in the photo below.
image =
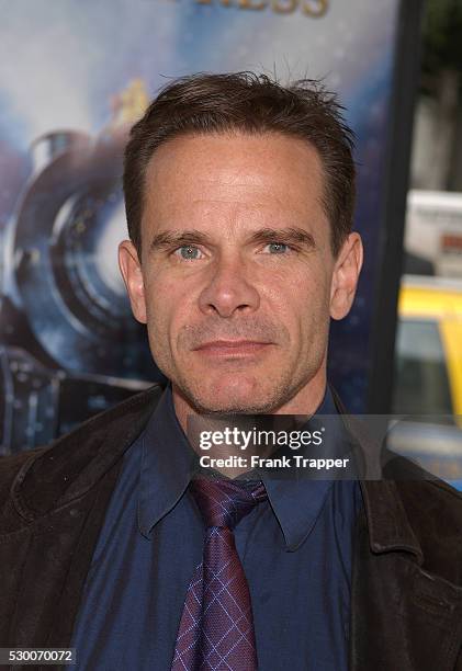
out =
[[[326,387],[316,414],[337,414],[331,391]],[[165,389],[156,406],[142,441],[142,466],[138,498],[138,527],[147,538],[153,528],[183,496],[198,465],[174,412],[171,385]],[[333,480],[281,479],[264,470],[259,473],[264,482],[270,505],[282,530],[286,549],[297,549],[308,536],[333,487]]]

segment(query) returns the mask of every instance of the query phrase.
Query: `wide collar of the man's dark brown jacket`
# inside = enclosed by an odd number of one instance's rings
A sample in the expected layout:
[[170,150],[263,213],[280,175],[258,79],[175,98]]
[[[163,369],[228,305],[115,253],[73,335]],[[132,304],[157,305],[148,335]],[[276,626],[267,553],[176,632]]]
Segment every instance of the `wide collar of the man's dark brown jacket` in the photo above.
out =
[[[125,451],[140,435],[162,394],[155,384],[116,407],[92,418],[46,450],[31,455],[16,476],[12,497],[16,511],[27,521],[52,512],[56,508],[82,497],[104,474],[123,457]],[[333,396],[343,422],[356,439],[358,459],[364,468],[364,454],[378,450],[365,435],[361,423],[346,416],[336,391]],[[360,481],[369,527],[369,539],[374,553],[405,550],[422,562],[418,543],[399,492],[393,480]]]

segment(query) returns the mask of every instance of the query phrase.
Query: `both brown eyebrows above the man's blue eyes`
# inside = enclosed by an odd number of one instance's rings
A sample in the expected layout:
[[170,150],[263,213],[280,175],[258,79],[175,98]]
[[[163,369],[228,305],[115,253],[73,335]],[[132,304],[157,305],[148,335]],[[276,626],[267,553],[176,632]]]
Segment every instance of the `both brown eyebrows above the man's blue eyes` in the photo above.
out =
[[[281,242],[283,244],[292,244],[294,247],[304,247],[308,250],[316,249],[316,242],[313,236],[303,228],[260,228],[250,235],[247,243],[266,243]],[[182,247],[188,244],[210,244],[211,238],[200,230],[166,230],[154,236],[150,242],[150,251],[162,251],[172,249],[173,247]]]

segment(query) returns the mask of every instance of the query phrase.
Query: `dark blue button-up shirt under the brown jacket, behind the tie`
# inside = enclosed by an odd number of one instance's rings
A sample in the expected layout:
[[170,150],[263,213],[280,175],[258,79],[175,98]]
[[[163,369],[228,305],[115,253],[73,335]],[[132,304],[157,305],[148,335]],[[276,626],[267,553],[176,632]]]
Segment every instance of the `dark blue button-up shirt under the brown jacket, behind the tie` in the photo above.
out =
[[[337,412],[328,389],[317,412]],[[202,560],[204,524],[188,490],[196,466],[169,385],[124,455],[75,626],[77,669],[170,669]],[[268,500],[235,528],[259,670],[347,671],[358,482],[262,480]]]

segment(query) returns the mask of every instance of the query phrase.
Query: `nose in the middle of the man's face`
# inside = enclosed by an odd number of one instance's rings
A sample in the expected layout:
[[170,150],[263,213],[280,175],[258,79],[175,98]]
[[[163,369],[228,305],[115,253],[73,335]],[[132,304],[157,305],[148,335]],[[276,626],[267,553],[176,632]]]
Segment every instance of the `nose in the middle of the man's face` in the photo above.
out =
[[200,309],[229,318],[235,312],[249,314],[258,309],[260,296],[249,282],[245,264],[239,259],[222,259],[199,297]]

